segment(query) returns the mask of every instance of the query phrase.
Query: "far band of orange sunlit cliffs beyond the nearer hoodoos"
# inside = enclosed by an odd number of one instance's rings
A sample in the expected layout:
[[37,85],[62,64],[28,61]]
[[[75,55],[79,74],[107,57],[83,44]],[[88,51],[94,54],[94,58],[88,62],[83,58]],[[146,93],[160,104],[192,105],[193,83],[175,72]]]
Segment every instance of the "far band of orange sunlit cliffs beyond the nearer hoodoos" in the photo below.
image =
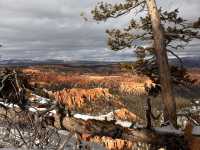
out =
[[[63,88],[93,88],[104,87],[115,89],[121,93],[146,95],[145,86],[151,87],[152,81],[145,76],[117,73],[113,75],[82,74],[78,72],[70,75],[57,71],[38,68],[26,68],[22,72],[30,77],[32,86],[46,87],[54,90]],[[63,88],[62,88],[63,87]]]

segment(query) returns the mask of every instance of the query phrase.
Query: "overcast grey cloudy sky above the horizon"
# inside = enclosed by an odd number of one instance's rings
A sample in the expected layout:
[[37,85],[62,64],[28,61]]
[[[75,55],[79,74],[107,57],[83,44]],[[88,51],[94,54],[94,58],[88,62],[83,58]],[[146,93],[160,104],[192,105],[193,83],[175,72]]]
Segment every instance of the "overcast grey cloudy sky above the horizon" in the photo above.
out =
[[[105,29],[123,27],[130,16],[99,23],[80,16],[99,0],[0,0],[1,59],[131,60],[132,50],[113,52]],[[107,0],[116,2],[119,0]],[[157,0],[167,9],[180,8],[189,20],[200,17],[199,0]],[[200,55],[199,41],[181,54]]]

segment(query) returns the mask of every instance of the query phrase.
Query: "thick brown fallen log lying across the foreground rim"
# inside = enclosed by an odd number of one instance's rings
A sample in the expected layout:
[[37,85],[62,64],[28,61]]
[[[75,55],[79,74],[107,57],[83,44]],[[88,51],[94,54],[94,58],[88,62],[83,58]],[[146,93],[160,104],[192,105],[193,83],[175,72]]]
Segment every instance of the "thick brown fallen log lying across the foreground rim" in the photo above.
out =
[[113,139],[144,142],[168,149],[187,149],[187,142],[183,132],[166,131],[157,129],[131,129],[116,125],[114,121],[82,120],[73,117],[65,117],[63,126],[70,132],[93,136],[107,136]]

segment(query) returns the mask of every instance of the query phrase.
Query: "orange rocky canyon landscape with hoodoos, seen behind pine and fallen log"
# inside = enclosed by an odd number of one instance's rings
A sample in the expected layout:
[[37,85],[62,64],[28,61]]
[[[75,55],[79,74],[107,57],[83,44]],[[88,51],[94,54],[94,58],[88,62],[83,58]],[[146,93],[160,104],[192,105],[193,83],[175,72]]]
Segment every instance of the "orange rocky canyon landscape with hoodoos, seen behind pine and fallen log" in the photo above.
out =
[[[118,124],[124,127],[131,127],[136,123],[145,126],[148,97],[145,89],[153,87],[154,83],[148,77],[133,75],[118,67],[115,65],[112,70],[113,66],[110,66],[105,72],[102,67],[95,69],[83,67],[80,70],[79,67],[79,69],[73,69],[66,65],[14,68],[19,72],[19,78],[24,81],[25,87],[29,89],[26,91],[26,98],[33,104],[29,109],[31,112],[44,110],[48,101],[53,100],[62,103],[74,117],[83,120],[117,120]],[[92,71],[93,69],[95,71]],[[194,84],[186,88],[174,85],[180,114],[188,112],[188,108],[192,110],[191,106],[200,99],[200,70],[189,69],[189,74],[191,79],[196,80]],[[162,110],[161,98],[158,96],[151,97],[151,99],[153,113],[159,115]],[[199,115],[191,117],[200,123]],[[184,123],[184,119],[180,117],[179,120]],[[159,126],[160,120],[162,118],[154,124]],[[103,144],[107,149],[116,149],[116,147],[128,149],[133,144],[129,141],[108,137],[91,138],[88,135],[83,135],[82,139]],[[100,147],[99,149],[102,148]]]

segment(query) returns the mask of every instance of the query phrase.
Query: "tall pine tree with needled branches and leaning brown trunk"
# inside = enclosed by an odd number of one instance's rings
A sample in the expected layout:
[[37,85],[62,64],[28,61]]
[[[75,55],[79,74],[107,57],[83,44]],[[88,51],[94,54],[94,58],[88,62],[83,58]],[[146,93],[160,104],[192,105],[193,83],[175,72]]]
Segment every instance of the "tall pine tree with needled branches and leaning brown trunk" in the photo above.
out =
[[[132,14],[128,26],[124,29],[106,31],[108,45],[116,51],[135,49],[138,61],[134,68],[138,73],[146,74],[160,83],[165,121],[170,121],[176,126],[176,104],[171,82],[180,80],[171,74],[170,70],[174,68],[168,64],[167,53],[171,53],[182,63],[174,50],[184,48],[194,38],[200,38],[200,19],[195,23],[188,22],[178,16],[178,9],[158,9],[155,0],[124,0],[118,4],[99,2],[91,13],[96,21],[107,21],[109,18],[117,19]],[[135,17],[136,15],[140,15],[140,18]],[[150,44],[144,47],[135,41]],[[183,73],[184,71],[181,71],[180,74]]]

